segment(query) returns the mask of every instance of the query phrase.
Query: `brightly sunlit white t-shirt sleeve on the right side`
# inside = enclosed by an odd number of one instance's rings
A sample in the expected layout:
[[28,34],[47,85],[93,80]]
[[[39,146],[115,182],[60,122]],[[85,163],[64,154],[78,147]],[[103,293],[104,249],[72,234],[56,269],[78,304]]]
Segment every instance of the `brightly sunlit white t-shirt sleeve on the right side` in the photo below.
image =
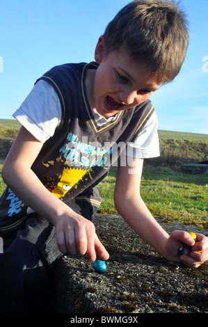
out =
[[159,136],[157,133],[158,120],[154,111],[147,120],[134,142],[129,142],[122,155],[138,159],[159,157]]

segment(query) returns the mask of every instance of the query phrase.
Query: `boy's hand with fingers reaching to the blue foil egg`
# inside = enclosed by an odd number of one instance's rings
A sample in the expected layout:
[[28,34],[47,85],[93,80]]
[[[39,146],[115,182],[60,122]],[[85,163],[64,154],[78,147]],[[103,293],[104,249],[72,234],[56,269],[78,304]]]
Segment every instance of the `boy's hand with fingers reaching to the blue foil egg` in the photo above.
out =
[[56,240],[62,253],[87,254],[92,262],[96,260],[96,255],[102,260],[109,259],[109,253],[97,237],[95,225],[79,214],[57,219]]

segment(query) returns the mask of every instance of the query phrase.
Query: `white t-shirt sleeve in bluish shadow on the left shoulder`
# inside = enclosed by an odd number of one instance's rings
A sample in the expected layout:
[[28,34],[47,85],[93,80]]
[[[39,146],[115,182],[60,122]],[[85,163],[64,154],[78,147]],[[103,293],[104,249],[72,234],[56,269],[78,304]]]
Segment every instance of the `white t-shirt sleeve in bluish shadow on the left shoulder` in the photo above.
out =
[[47,81],[38,81],[13,117],[45,143],[61,122],[61,103],[56,91]]

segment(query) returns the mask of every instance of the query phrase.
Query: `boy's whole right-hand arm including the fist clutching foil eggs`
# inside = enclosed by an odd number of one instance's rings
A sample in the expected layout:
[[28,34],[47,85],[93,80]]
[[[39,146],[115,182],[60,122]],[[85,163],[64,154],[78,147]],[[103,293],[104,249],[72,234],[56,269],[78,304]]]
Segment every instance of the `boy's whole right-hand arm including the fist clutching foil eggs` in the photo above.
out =
[[188,255],[179,257],[178,248],[182,243],[193,246],[195,242],[188,232],[175,231],[169,236],[154,219],[140,195],[142,170],[143,159],[129,157],[126,165],[118,168],[114,195],[115,207],[129,226],[167,260],[199,266],[208,259],[205,251],[208,247],[207,237],[198,234],[200,243],[194,246],[195,251],[204,250],[204,253],[193,252],[192,257]]

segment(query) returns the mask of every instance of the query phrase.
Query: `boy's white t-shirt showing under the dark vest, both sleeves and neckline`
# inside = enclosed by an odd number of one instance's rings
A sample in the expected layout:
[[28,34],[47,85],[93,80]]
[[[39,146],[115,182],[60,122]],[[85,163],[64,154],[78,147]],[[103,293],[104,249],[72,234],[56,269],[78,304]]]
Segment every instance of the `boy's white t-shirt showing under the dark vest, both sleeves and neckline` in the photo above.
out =
[[[15,111],[13,117],[38,141],[45,143],[54,135],[56,127],[61,122],[61,114],[61,102],[56,91],[49,83],[40,80],[35,84],[19,109]],[[95,113],[94,115],[99,126],[115,119],[115,117],[111,117],[106,120],[106,118]],[[134,143],[127,145],[127,156],[135,158],[159,157],[157,126],[157,114],[154,111]]]

